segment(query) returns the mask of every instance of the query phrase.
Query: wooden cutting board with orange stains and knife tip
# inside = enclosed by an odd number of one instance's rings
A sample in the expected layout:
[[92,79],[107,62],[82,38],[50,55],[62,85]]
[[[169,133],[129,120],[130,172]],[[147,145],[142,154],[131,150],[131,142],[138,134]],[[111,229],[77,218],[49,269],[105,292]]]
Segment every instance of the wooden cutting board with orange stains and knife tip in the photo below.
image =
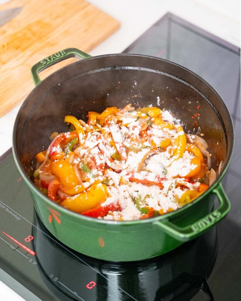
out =
[[[84,0],[12,0],[0,11],[23,6],[0,27],[0,117],[24,101],[34,88],[31,67],[64,48],[89,52],[120,23]],[[40,73],[44,79],[71,58]]]

